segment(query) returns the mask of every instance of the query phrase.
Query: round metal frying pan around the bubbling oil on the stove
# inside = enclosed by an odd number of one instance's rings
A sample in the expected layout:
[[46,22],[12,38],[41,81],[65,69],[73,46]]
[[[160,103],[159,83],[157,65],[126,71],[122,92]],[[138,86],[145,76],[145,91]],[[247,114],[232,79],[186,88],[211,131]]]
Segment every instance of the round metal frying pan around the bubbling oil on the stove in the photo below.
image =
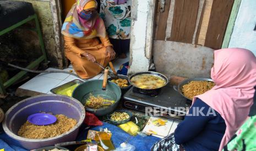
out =
[[[166,86],[166,84],[168,84],[168,82],[169,82],[168,78],[164,74],[161,74],[161,73],[158,73],[158,72],[146,71],[146,72],[138,72],[138,73],[134,73],[134,74],[130,75],[129,83],[132,84],[134,87],[138,88],[135,84],[133,84],[131,82],[131,79],[133,77],[135,77],[137,75],[141,75],[141,74],[150,74],[150,75],[154,75],[156,77],[160,77],[160,78],[164,79],[165,80],[165,85],[163,85],[162,87]],[[141,89],[141,88],[138,88],[138,89]],[[156,88],[156,89],[160,89],[160,88]],[[143,89],[143,90],[155,90],[155,89]]]

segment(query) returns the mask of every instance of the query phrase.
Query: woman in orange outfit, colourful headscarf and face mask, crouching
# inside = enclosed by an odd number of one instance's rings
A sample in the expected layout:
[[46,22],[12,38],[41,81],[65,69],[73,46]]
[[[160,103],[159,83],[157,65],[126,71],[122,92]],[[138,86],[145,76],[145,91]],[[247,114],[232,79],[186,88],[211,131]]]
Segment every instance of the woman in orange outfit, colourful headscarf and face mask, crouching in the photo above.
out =
[[77,0],[62,27],[66,57],[83,79],[102,71],[96,62],[105,67],[116,56],[96,8],[95,0]]

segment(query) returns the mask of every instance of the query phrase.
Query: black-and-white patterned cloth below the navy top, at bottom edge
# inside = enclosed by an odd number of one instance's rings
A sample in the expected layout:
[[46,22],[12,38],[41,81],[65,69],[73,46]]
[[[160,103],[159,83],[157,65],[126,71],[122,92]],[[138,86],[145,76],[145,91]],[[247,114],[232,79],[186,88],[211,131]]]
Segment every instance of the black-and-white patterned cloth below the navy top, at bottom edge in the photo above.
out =
[[166,136],[161,141],[156,142],[151,151],[180,151],[179,145],[175,143],[174,134],[171,133],[169,136]]

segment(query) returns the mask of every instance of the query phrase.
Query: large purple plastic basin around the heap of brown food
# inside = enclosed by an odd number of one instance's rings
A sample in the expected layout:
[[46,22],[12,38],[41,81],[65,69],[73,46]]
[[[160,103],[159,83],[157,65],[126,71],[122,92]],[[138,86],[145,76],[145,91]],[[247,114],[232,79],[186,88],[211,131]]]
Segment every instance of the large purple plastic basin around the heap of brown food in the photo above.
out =
[[[29,115],[48,112],[64,114],[68,118],[77,120],[77,125],[62,135],[46,139],[29,139],[17,135],[20,126],[25,123]],[[85,109],[75,98],[60,95],[39,95],[27,98],[12,106],[3,121],[3,129],[8,136],[17,140],[21,146],[32,150],[46,146],[54,146],[56,143],[74,141],[78,135],[79,127],[85,118]]]

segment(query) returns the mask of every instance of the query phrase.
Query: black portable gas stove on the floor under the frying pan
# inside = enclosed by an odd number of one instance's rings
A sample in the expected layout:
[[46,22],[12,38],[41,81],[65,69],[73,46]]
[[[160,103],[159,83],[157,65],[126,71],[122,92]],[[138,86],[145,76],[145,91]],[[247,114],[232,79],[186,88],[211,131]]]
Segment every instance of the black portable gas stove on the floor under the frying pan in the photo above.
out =
[[124,107],[177,120],[184,119],[187,113],[184,108],[188,109],[190,106],[190,100],[184,98],[169,85],[156,89],[156,91],[141,91],[141,89],[132,87],[123,98]]

